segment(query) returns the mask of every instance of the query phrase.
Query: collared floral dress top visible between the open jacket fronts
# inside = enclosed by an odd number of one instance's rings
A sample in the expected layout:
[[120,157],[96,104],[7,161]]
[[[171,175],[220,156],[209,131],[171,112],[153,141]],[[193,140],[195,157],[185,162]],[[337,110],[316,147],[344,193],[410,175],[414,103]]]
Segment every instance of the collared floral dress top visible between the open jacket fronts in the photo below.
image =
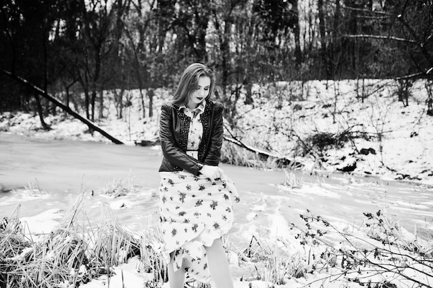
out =
[[203,136],[203,125],[200,115],[205,111],[206,101],[203,100],[198,107],[190,109],[185,105],[179,107],[179,111],[190,117],[190,132],[188,132],[187,155],[199,159],[199,144]]

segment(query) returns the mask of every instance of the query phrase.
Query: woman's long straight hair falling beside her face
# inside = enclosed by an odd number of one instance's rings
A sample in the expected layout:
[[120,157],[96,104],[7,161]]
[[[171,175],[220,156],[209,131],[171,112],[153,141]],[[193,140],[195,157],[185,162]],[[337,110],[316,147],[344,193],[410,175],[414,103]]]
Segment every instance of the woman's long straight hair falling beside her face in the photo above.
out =
[[172,102],[178,106],[187,105],[190,94],[197,88],[199,78],[201,77],[210,78],[209,94],[206,96],[206,101],[209,100],[215,89],[215,73],[205,64],[193,63],[190,66],[187,66],[187,69],[183,71],[176,92],[174,92]]

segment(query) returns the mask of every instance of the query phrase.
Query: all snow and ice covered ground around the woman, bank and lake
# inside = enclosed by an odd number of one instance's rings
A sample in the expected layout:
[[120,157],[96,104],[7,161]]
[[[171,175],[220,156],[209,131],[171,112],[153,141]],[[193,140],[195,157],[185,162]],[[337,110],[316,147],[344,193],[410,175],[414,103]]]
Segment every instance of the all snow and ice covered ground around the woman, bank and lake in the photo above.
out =
[[[304,163],[305,168],[304,171],[284,172],[222,165],[237,183],[241,195],[241,202],[234,207],[236,220],[228,239],[236,288],[270,287],[275,285],[271,283],[274,277],[283,279],[282,284],[276,285],[282,287],[360,287],[350,279],[390,282],[396,287],[413,284],[396,271],[375,273],[374,269],[369,270],[371,267],[361,269],[359,276],[350,273],[338,276],[344,269],[329,263],[343,263],[341,256],[322,258],[322,253],[332,255],[335,251],[314,245],[311,239],[302,244],[296,229],[290,229],[292,223],[306,229],[300,214],[320,215],[326,219],[335,230],[329,226],[320,229],[329,229],[329,237],[325,238],[333,249],[351,251],[351,244],[358,242],[364,249],[371,246],[387,249],[388,245],[381,240],[390,240],[391,235],[377,226],[366,226],[369,219],[362,215],[376,215],[381,210],[385,213],[382,219],[386,225],[394,228],[395,238],[391,241],[416,245],[418,251],[425,249],[422,251],[427,255],[426,260],[432,259],[433,117],[425,114],[427,94],[422,82],[415,83],[413,98],[409,99],[408,107],[403,107],[401,102],[391,100],[396,97],[390,96],[391,86],[377,89],[384,82],[375,83],[376,88],[369,89],[378,92],[364,102],[355,97],[353,82],[328,82],[328,89],[326,82],[308,82],[302,90],[300,83],[290,86],[278,83],[276,87],[255,88],[256,95],[273,96],[270,100],[256,97],[253,105],[239,101],[237,126],[240,132],[237,136],[249,145],[272,148],[273,154],[295,158]],[[96,124],[127,144],[156,140],[158,107],[168,99],[167,91],[156,91],[154,118],[140,118],[138,93],[130,93],[134,96],[133,105],[124,110],[126,120],[116,120],[111,108],[105,110],[107,118]],[[291,101],[288,96],[292,96]],[[41,233],[48,233],[59,225],[78,191],[85,190],[84,210],[93,221],[98,221],[100,210],[108,204],[119,222],[134,233],[156,223],[157,217],[152,215],[158,211],[158,147],[52,141],[74,139],[106,143],[107,139],[98,133],[91,136],[86,132],[86,125],[60,114],[46,117],[46,122],[52,128],[49,132],[40,129],[39,119],[33,114],[0,116],[0,131],[3,131],[0,133],[0,186],[3,187],[0,188],[13,188],[12,192],[0,195],[0,217],[8,217],[20,204],[21,222],[28,224],[33,235],[44,235]],[[302,148],[296,141],[298,136],[306,139],[317,132],[335,135],[348,129],[353,134],[370,137],[355,138],[353,143],[332,147],[323,152],[321,161],[295,154]],[[383,135],[381,141],[374,137],[378,134]],[[371,148],[376,154],[356,154],[353,147],[358,151]],[[357,163],[355,176],[331,174],[351,161]],[[316,173],[311,176],[311,171]],[[369,177],[371,174],[377,177]],[[405,174],[409,175],[405,179],[412,178],[412,181],[391,180],[403,178]],[[122,182],[123,187],[131,187],[131,179],[134,179],[132,188],[125,195],[114,197],[105,193],[109,187],[116,186],[113,183],[116,180]],[[312,227],[319,223],[315,221]],[[351,242],[344,241],[335,231],[350,235],[347,237]],[[318,233],[315,228],[309,232]],[[248,249],[257,254],[246,255]],[[416,255],[419,259],[418,254],[394,252],[389,257],[392,264],[420,268],[418,271],[400,268],[400,272],[423,283],[433,282],[431,267],[414,264],[405,256]],[[370,256],[371,261],[389,263],[385,252],[380,259]],[[143,287],[149,275],[139,272],[138,267],[137,258],[115,267],[116,275],[111,278],[110,287]],[[297,268],[304,269],[300,269],[299,278],[289,277],[285,272]],[[331,275],[333,281],[327,278]],[[168,287],[167,283],[160,285]],[[387,287],[395,287],[390,285]],[[107,276],[82,287],[107,287]]]

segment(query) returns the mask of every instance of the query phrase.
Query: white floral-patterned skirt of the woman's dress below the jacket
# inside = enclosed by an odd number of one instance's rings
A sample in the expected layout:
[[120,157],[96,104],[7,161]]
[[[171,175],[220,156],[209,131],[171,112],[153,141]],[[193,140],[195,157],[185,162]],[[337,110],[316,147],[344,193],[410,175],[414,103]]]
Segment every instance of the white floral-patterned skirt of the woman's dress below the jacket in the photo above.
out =
[[211,180],[189,172],[160,172],[160,226],[163,257],[174,252],[174,270],[185,267],[194,279],[209,282],[204,246],[228,233],[233,203],[239,201],[234,183],[225,175]]

